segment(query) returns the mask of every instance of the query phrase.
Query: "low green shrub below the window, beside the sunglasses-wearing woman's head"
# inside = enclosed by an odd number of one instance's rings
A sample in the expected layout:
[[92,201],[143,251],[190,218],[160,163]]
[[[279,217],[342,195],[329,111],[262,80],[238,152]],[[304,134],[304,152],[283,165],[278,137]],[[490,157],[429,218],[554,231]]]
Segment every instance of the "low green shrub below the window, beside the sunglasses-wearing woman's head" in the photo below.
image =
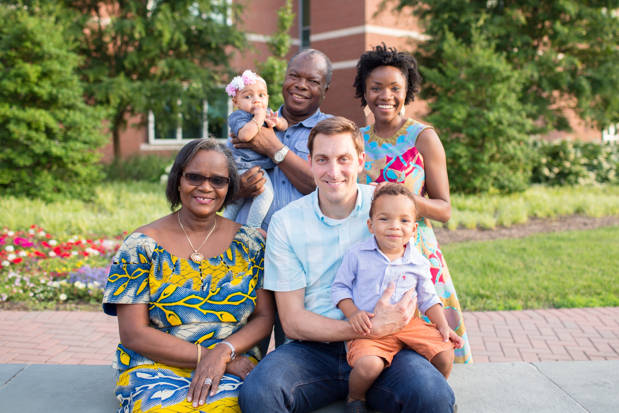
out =
[[114,160],[103,170],[108,181],[158,182],[165,173],[165,167],[174,162],[175,155],[132,155],[126,159]]

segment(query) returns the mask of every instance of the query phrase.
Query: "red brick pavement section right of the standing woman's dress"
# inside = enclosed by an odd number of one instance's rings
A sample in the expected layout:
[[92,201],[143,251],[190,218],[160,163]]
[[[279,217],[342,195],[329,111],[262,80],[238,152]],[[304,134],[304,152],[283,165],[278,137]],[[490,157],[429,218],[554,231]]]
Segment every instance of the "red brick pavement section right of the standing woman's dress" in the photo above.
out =
[[619,360],[619,307],[472,311],[476,363]]

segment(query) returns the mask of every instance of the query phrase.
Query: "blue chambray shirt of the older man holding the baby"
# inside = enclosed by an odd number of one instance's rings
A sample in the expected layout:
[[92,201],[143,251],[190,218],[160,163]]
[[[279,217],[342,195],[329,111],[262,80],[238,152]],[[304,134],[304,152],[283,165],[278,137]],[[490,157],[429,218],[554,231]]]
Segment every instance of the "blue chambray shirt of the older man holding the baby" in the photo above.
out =
[[[283,108],[284,105],[279,108],[279,113],[282,113]],[[309,131],[311,131],[311,128],[316,126],[316,123],[319,121],[332,117],[333,115],[325,115],[320,110],[317,110],[314,115],[309,116],[306,120],[294,126],[288,126],[285,132],[275,131],[275,135],[285,146],[289,147],[292,152],[305,160],[308,159],[309,155]],[[230,139],[228,139],[228,142],[229,141]],[[262,229],[265,231],[269,228],[269,222],[271,222],[271,217],[275,212],[287,206],[290,202],[303,198],[303,194],[292,186],[292,183],[290,183],[290,180],[288,180],[287,176],[284,175],[284,172],[282,172],[280,168],[275,167],[268,169],[266,173],[269,175],[269,178],[271,178],[271,183],[273,184],[274,198],[269,212],[267,212],[266,217],[262,220]],[[236,222],[246,224],[251,202],[253,202],[253,198],[248,198],[247,201],[245,201],[245,205],[243,205],[243,208],[241,208],[241,211],[236,216]]]

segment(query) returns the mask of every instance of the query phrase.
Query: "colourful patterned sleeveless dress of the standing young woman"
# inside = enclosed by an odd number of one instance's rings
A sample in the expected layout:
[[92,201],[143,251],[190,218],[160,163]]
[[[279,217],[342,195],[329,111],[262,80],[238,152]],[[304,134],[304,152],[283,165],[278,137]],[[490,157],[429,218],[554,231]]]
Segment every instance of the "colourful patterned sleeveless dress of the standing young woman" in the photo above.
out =
[[[376,136],[374,125],[361,129],[365,140],[366,162],[365,168],[359,174],[359,183],[397,182],[405,185],[412,193],[424,196],[423,157],[415,148],[415,141],[419,133],[426,128],[431,128],[431,126],[409,119],[402,129],[388,139]],[[415,246],[430,261],[432,280],[435,283],[436,293],[443,302],[443,313],[449,326],[464,339],[464,347],[455,350],[454,362],[472,363],[469,337],[466,334],[460,303],[443,253],[438,246],[430,221],[423,218],[418,221],[418,224]],[[418,311],[417,316],[421,316]],[[430,322],[428,318],[425,320]]]

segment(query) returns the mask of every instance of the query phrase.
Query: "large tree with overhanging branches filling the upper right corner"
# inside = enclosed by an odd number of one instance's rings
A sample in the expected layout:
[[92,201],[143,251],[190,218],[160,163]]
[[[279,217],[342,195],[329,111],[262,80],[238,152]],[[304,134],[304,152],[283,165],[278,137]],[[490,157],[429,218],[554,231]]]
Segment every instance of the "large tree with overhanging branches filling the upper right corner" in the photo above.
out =
[[[522,79],[537,132],[569,129],[571,107],[598,126],[619,121],[619,0],[396,0],[412,6],[429,40],[420,63],[444,60],[446,31],[471,45],[479,30]],[[406,9],[410,10],[410,9]],[[433,95],[426,90],[426,95]]]

